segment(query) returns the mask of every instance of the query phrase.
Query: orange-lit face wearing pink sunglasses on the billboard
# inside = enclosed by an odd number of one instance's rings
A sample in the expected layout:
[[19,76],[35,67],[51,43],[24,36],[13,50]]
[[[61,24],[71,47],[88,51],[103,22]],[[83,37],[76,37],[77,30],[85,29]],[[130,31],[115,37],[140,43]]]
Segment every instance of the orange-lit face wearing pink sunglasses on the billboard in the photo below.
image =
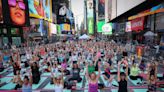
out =
[[23,26],[26,24],[27,17],[27,3],[25,0],[7,0],[9,14],[10,14],[10,24]]

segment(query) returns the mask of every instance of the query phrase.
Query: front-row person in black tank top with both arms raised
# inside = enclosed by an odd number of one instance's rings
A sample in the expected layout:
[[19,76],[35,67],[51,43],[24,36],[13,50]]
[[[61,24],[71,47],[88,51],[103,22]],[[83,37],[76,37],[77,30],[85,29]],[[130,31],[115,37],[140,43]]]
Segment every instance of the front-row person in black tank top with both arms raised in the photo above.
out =
[[[124,72],[120,73],[120,65],[121,64],[124,64],[126,66],[125,73]],[[118,78],[117,80],[118,80],[118,84],[119,84],[118,92],[128,92],[127,76],[128,76],[128,62],[123,62],[123,61],[118,62],[118,72],[117,72],[117,78]]]

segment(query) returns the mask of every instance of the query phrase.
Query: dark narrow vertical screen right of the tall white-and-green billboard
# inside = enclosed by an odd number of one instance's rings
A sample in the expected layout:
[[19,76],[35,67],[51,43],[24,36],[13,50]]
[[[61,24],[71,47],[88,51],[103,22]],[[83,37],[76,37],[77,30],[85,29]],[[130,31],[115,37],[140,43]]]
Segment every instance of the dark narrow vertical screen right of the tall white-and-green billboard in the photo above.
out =
[[105,18],[105,0],[99,0],[98,4],[98,19],[102,20]]

